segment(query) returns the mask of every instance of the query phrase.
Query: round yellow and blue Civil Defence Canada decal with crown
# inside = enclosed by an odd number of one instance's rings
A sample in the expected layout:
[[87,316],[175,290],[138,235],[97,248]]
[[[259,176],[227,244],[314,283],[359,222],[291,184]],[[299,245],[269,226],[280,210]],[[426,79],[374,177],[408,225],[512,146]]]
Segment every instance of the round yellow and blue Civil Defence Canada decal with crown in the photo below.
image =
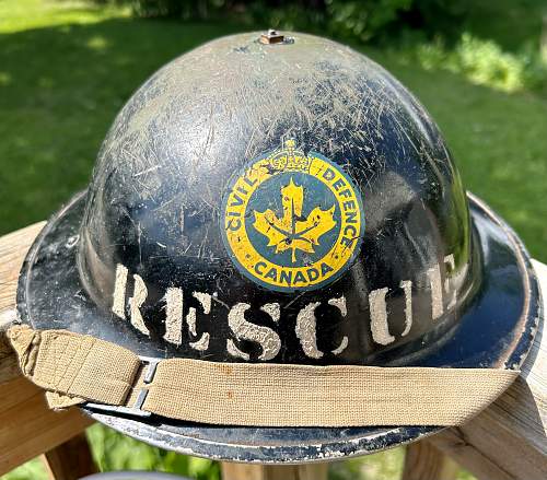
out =
[[278,291],[313,290],[337,279],[359,251],[361,195],[324,156],[284,148],[260,155],[223,200],[222,234],[240,271]]

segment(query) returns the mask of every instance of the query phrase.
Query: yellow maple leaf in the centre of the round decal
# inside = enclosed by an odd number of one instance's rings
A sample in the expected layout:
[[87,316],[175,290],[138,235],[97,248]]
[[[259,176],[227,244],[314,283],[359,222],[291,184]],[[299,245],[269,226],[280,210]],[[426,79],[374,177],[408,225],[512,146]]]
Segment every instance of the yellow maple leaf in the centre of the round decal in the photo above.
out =
[[305,218],[302,216],[303,203],[304,188],[294,185],[291,177],[289,185],[281,188],[281,219],[270,209],[265,212],[255,210],[253,226],[269,239],[269,247],[276,247],[276,254],[291,249],[293,264],[296,261],[296,250],[313,254],[314,246],[319,245],[319,237],[336,225],[334,204],[328,210],[315,207]]

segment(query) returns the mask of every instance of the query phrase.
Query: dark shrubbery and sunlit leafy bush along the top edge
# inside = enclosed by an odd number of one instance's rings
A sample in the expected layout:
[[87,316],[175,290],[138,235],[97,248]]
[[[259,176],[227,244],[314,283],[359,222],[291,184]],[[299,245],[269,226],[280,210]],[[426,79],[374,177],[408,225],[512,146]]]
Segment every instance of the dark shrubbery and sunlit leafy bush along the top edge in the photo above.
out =
[[[186,21],[231,19],[244,25],[304,30],[346,42],[397,44],[424,67],[463,72],[480,84],[500,90],[542,89],[547,67],[537,44],[525,42],[505,52],[496,42],[468,32],[480,13],[472,0],[96,0],[130,5],[141,17]],[[540,2],[516,0],[528,15],[525,24],[542,22]],[[482,5],[484,7],[484,5]],[[496,7],[498,11],[503,5]],[[478,10],[478,12],[477,12]],[[485,9],[482,15],[492,12]],[[532,20],[534,19],[534,20]],[[470,28],[473,30],[473,28]],[[532,32],[532,31],[531,31]],[[531,35],[528,33],[528,36]],[[511,33],[512,35],[512,33]],[[431,43],[433,40],[433,43]],[[451,48],[452,47],[452,48]]]

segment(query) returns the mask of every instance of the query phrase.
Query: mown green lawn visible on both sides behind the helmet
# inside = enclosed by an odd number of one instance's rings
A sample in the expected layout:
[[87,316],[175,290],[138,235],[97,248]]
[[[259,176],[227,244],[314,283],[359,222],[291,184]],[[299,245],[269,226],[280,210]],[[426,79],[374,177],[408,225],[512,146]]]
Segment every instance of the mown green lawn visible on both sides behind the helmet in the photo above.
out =
[[[528,3],[512,2],[504,14],[502,7],[494,11],[491,2],[480,1],[498,23],[486,22],[480,30],[472,19],[474,35],[517,49],[529,36],[515,26],[516,45],[515,37],[509,38],[511,25],[528,19],[525,25],[538,28],[536,16],[515,7]],[[47,218],[85,187],[116,112],[154,70],[205,40],[240,30],[229,23],[133,20],[123,9],[85,3],[0,0],[0,233]],[[515,227],[533,256],[547,261],[547,98],[424,70],[395,49],[363,51],[417,94],[443,130],[466,187]],[[89,435],[105,470],[219,477],[209,460],[161,452],[100,425]],[[337,464],[330,477],[394,479],[401,461],[399,448]],[[4,480],[44,475],[33,461]],[[470,477],[461,472],[458,478]]]

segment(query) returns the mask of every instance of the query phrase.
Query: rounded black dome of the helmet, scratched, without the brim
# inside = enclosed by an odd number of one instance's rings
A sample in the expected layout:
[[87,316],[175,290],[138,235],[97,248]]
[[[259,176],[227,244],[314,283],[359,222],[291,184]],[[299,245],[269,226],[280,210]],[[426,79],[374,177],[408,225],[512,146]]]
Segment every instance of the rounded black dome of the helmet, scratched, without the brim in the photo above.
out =
[[[276,45],[258,37],[183,55],[119,113],[80,230],[86,294],[130,323],[148,354],[408,363],[443,341],[473,291],[467,201],[444,141],[416,98],[363,55],[311,35]],[[287,169],[287,159],[305,165]],[[257,168],[280,174],[259,179],[234,213]],[[359,225],[333,265],[325,251],[348,213],[337,180],[350,186]],[[298,220],[282,198],[300,198]],[[327,231],[296,238],[314,212]],[[246,219],[238,254],[230,214]]]

